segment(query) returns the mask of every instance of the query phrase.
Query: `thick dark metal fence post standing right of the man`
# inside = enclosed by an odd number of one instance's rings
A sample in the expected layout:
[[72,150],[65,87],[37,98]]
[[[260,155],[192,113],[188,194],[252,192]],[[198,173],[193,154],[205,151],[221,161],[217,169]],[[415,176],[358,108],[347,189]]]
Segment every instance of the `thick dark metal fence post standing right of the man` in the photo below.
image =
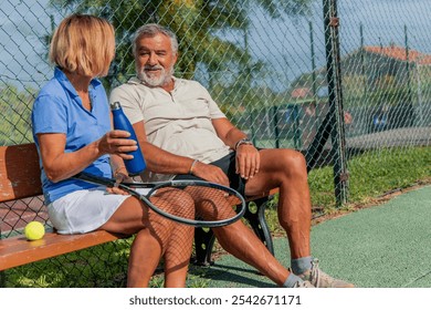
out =
[[346,136],[344,132],[344,110],[341,92],[341,70],[339,56],[339,39],[337,1],[324,1],[324,27],[327,82],[329,89],[329,114],[332,118],[330,137],[334,156],[334,185],[337,206],[347,203],[348,172],[346,161]]

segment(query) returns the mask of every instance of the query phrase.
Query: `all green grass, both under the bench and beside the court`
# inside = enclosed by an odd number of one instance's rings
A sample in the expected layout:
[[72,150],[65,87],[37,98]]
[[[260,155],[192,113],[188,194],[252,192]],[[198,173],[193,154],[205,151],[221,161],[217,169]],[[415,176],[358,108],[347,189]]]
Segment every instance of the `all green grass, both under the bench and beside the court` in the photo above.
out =
[[[431,147],[378,149],[348,161],[349,196],[343,211],[376,203],[393,190],[431,183]],[[313,169],[308,176],[316,214],[339,213],[334,199],[333,167]],[[274,234],[277,224],[277,197],[267,209],[266,220]],[[34,262],[7,271],[8,283],[15,287],[124,287],[127,256],[132,239],[117,240],[91,249]],[[207,268],[191,267],[188,287],[207,287]],[[151,287],[162,287],[162,275],[156,275]]]

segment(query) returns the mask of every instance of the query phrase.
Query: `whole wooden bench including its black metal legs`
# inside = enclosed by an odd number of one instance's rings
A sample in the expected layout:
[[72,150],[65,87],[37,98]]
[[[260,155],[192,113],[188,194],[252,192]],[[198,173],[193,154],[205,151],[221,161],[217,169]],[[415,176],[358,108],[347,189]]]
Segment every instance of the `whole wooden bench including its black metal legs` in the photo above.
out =
[[[29,197],[39,197],[40,203],[43,205],[39,156],[35,145],[29,143],[0,146],[0,271],[125,237],[104,230],[82,235],[59,235],[55,231],[50,231],[40,240],[28,241],[22,235],[22,230],[25,224],[32,220],[30,217],[25,219],[24,216],[25,209],[29,207],[22,204],[9,203]],[[264,205],[267,198],[267,195],[263,194],[260,197],[248,199],[248,204],[255,202],[257,207],[254,208],[256,211],[248,209],[245,218],[260,239],[273,252],[271,231],[264,217]],[[19,206],[21,206],[21,210],[17,210]],[[42,215],[39,214],[38,216],[44,219],[45,224],[49,223],[46,210],[44,209],[44,211],[40,213]],[[14,215],[14,219],[9,218],[10,214]],[[17,234],[19,235],[17,236]],[[211,251],[213,242],[214,236],[211,230],[197,228],[197,265],[209,265],[212,262]]]

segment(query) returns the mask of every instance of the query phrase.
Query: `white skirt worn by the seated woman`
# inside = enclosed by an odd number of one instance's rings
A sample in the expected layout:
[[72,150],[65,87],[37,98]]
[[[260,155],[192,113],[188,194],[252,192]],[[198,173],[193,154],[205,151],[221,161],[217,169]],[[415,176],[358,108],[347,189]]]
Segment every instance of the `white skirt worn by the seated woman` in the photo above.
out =
[[76,190],[48,205],[48,214],[59,234],[85,234],[104,225],[128,197],[103,186]]

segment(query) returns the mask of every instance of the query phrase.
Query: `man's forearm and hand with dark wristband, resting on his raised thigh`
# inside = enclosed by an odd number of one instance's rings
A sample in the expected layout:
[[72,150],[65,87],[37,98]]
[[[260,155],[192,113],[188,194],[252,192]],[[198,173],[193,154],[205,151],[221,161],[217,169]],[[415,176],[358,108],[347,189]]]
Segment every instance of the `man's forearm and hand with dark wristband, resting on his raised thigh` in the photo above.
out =
[[212,125],[224,144],[236,152],[236,173],[245,179],[254,177],[261,166],[259,151],[252,144],[238,144],[246,138],[246,134],[236,128],[228,118],[212,120]]

